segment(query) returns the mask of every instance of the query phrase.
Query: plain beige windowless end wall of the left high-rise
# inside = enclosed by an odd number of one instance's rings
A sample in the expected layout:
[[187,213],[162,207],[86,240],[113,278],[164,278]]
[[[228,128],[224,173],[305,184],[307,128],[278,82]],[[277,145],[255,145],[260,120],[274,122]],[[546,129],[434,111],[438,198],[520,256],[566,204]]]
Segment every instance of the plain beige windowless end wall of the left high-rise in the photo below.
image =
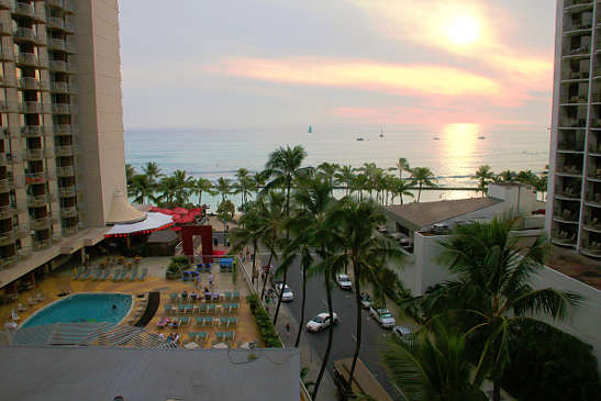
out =
[[88,226],[102,226],[115,190],[125,192],[116,0],[77,2],[79,126]]

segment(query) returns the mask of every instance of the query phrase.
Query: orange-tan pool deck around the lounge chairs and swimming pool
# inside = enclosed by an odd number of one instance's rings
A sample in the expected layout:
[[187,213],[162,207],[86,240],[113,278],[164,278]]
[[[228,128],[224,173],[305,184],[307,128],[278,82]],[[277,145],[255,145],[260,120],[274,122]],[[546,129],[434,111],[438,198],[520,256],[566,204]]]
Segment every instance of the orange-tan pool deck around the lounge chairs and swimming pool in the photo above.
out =
[[[103,261],[105,257],[100,257],[91,261],[92,269],[96,269],[100,261]],[[148,276],[143,280],[135,281],[118,281],[112,280],[105,281],[94,281],[91,279],[88,280],[73,280],[71,277],[74,271],[59,269],[54,271],[52,275],[46,276],[42,280],[38,280],[35,285],[35,288],[29,291],[20,292],[19,299],[9,304],[0,305],[0,318],[2,318],[2,324],[9,322],[11,319],[11,313],[13,309],[16,309],[21,303],[23,307],[26,307],[26,310],[18,312],[20,316],[19,323],[24,322],[29,316],[38,311],[40,309],[55,302],[64,297],[58,297],[59,293],[69,291],[70,293],[81,293],[81,292],[120,292],[120,293],[130,293],[134,296],[133,305],[130,311],[130,314],[125,316],[121,324],[133,324],[137,321],[135,316],[138,305],[143,305],[145,299],[137,298],[138,294],[145,294],[151,291],[157,291],[160,293],[160,304],[155,316],[146,325],[146,331],[149,333],[164,333],[167,336],[169,333],[176,333],[180,335],[179,345],[183,346],[189,343],[188,337],[189,332],[208,332],[208,339],[203,344],[203,347],[209,348],[213,343],[216,342],[216,332],[221,331],[233,331],[235,332],[235,339],[233,342],[233,347],[236,347],[238,344],[254,342],[258,343],[261,346],[260,334],[257,330],[255,319],[251,313],[248,304],[246,302],[246,296],[249,293],[249,289],[246,286],[242,274],[237,274],[237,279],[234,279],[232,272],[220,272],[219,264],[214,263],[212,265],[213,274],[213,290],[215,292],[233,292],[240,291],[241,299],[240,301],[221,301],[221,302],[240,302],[240,312],[236,314],[221,314],[216,313],[214,318],[222,316],[236,316],[238,319],[236,326],[231,327],[220,327],[218,325],[205,327],[197,326],[194,322],[196,314],[166,314],[165,305],[171,304],[170,293],[181,293],[187,292],[202,292],[204,287],[209,287],[209,272],[200,274],[200,285],[199,289],[194,288],[194,283],[191,281],[179,280],[167,280],[165,279],[165,271],[167,265],[170,261],[170,257],[145,257],[140,261],[138,271],[142,268],[148,268]],[[119,267],[118,267],[119,268]],[[110,268],[111,272],[114,271],[115,267]],[[112,277],[112,275],[111,275]],[[30,305],[29,300],[42,292],[45,297],[45,300],[37,302],[33,305]],[[219,302],[219,303],[221,303]],[[183,303],[182,301],[176,301],[174,304]],[[218,303],[218,304],[219,304]],[[197,303],[198,304],[198,303]],[[178,315],[191,316],[190,324],[187,326],[181,326],[179,328],[165,327],[159,328],[157,323],[160,318],[168,316],[174,318]],[[208,316],[204,314],[203,316]],[[4,327],[0,328],[4,330]]]

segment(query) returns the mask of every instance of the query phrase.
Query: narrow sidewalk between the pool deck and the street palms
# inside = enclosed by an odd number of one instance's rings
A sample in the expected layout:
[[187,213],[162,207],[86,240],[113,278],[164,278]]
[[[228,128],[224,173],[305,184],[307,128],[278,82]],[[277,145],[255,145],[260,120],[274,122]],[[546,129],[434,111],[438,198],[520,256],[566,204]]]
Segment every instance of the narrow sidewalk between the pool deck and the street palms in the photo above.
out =
[[[260,259],[261,259],[260,255],[257,255],[257,266],[261,266]],[[248,263],[249,260],[241,263],[241,266],[248,272],[248,277],[251,277],[251,274],[249,274],[251,265],[248,266],[248,268],[246,266],[246,264]],[[269,283],[267,286],[269,286]],[[259,286],[259,291],[260,291],[260,288],[261,287]],[[294,305],[294,303],[292,303],[291,305]],[[265,307],[265,303],[264,303],[264,307]],[[277,299],[275,299],[274,301],[269,303],[269,315],[271,318],[276,313],[276,307],[277,307]],[[289,305],[287,303],[283,303],[283,302],[281,303],[280,312],[278,316],[278,323],[276,325],[276,331],[278,332],[285,347],[293,347],[294,341],[297,339],[297,332],[299,330],[299,322],[297,322],[294,316],[292,316],[288,308]],[[290,323],[290,334],[287,334],[286,332],[286,323]],[[315,381],[315,379],[318,378],[318,374],[320,372],[322,359],[321,359],[321,356],[318,355],[318,353],[311,347],[311,345],[307,341],[307,333],[301,334],[299,350],[301,354],[300,368],[301,369],[304,367],[309,368],[309,372],[304,381]],[[312,388],[309,389],[309,393],[311,393],[311,390]],[[334,380],[332,379],[332,376],[330,375],[329,369],[326,369],[323,375],[323,378],[320,385],[320,390],[318,392],[318,400],[320,401],[337,400],[336,385],[334,385]]]

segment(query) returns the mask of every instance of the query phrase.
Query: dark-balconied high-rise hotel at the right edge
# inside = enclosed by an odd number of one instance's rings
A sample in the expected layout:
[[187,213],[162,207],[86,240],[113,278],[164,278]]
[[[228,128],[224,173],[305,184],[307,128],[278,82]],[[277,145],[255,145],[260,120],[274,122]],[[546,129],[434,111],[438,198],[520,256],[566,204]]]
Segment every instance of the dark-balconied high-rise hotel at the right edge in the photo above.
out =
[[559,0],[546,224],[601,258],[601,1]]

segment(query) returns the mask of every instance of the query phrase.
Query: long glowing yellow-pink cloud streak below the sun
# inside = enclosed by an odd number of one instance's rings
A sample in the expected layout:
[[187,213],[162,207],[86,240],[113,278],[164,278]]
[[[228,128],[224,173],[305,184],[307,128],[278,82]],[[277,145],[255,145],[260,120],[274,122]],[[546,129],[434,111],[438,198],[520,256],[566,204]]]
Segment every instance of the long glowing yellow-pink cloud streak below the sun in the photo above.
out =
[[229,58],[204,68],[219,75],[291,85],[330,86],[399,96],[487,97],[502,94],[492,79],[453,67],[321,58]]

